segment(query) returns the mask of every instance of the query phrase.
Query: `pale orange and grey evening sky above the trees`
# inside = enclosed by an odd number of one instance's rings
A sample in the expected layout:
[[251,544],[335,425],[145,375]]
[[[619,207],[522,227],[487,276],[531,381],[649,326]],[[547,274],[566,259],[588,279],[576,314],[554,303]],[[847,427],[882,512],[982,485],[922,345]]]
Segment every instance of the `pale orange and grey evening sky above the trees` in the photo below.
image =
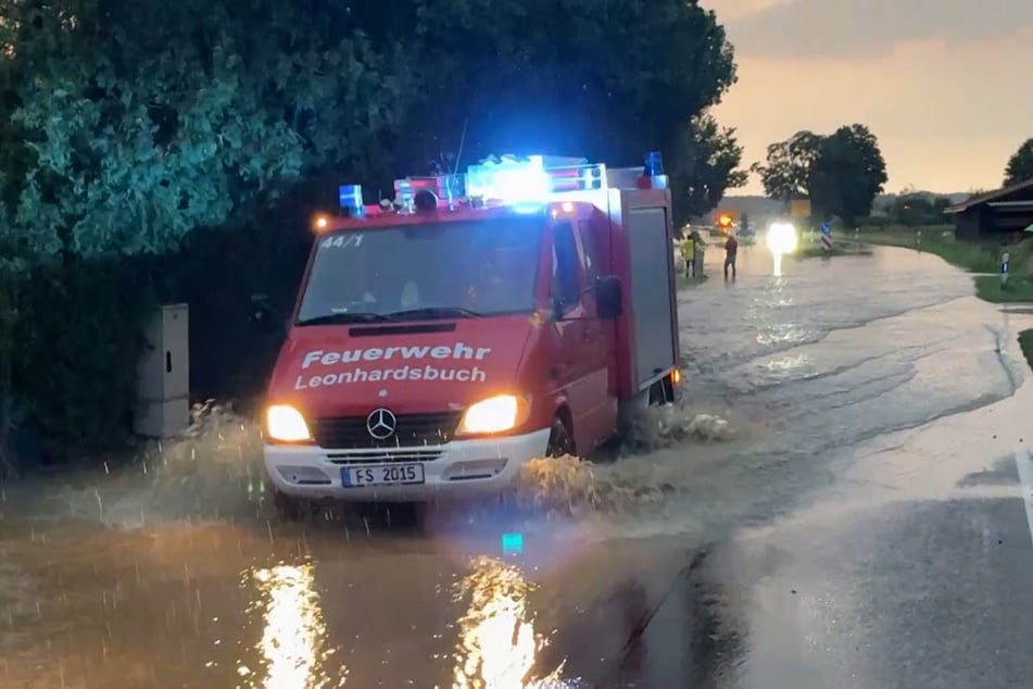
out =
[[[744,165],[801,129],[868,125],[886,191],[1000,186],[1033,137],[1033,0],[701,0],[735,47],[714,114]],[[736,193],[763,193],[759,180]]]

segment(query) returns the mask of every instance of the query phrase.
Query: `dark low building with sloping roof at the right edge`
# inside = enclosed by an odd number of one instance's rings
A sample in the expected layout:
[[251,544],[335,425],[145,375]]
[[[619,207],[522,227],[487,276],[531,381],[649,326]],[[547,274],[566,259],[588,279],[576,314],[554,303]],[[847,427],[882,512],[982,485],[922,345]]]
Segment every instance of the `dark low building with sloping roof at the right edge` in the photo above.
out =
[[1006,238],[1033,226],[1033,179],[977,193],[944,213],[954,215],[958,239]]

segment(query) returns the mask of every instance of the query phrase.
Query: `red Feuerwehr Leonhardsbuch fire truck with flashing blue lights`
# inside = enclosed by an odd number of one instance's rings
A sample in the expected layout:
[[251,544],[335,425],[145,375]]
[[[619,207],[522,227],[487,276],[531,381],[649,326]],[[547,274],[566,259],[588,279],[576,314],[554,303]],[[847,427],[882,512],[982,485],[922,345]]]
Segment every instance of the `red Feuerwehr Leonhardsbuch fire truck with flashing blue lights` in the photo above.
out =
[[394,186],[314,223],[264,410],[282,514],[496,490],[676,399],[666,176],[509,156]]

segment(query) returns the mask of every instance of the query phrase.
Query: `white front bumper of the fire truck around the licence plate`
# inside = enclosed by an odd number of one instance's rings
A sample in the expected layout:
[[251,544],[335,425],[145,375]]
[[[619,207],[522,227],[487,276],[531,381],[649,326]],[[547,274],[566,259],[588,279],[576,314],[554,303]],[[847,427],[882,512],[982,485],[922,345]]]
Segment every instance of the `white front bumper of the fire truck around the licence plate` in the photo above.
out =
[[[327,450],[313,446],[264,449],[276,491],[304,500],[428,502],[499,491],[514,483],[530,460],[545,456],[549,429],[504,438],[453,440],[442,446]],[[345,486],[342,471],[361,466],[419,464],[425,483]]]

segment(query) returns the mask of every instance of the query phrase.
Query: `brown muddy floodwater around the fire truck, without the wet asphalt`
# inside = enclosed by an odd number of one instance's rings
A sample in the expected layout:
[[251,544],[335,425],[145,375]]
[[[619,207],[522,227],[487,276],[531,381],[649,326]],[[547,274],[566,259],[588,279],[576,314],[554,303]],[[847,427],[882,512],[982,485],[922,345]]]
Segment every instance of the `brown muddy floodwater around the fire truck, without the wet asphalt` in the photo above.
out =
[[645,686],[620,668],[700,553],[1024,376],[1030,316],[932,256],[741,261],[682,293],[686,405],[504,499],[280,524],[221,408],[131,469],[4,487],[0,689]]

